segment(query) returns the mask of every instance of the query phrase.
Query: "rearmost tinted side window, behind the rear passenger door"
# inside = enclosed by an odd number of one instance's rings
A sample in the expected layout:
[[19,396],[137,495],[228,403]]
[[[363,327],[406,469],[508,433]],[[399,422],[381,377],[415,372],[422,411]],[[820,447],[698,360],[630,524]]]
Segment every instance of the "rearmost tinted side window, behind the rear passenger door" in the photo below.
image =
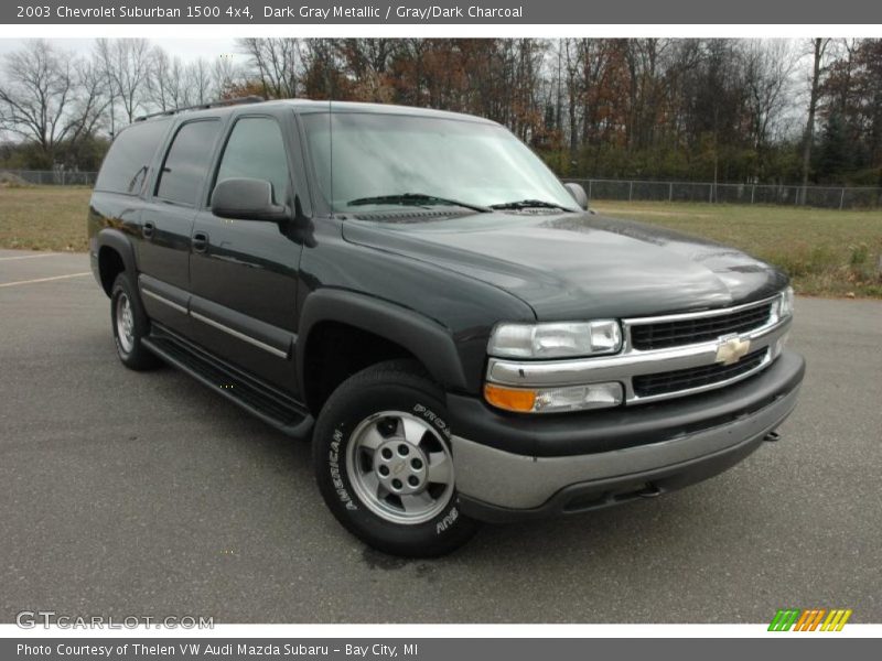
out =
[[147,180],[150,162],[169,128],[168,121],[146,121],[120,131],[105,156],[96,191],[137,195]]

